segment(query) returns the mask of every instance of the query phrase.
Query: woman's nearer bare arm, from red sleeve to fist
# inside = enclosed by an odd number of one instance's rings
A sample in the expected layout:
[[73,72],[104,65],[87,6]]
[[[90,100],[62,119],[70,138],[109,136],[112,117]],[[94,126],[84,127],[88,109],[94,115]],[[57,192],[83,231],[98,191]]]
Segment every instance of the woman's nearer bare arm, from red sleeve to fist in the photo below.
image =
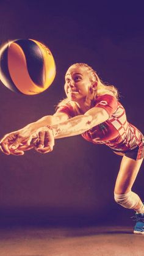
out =
[[54,147],[54,139],[82,134],[107,119],[109,119],[109,114],[105,109],[92,108],[84,115],[77,115],[56,125],[41,127],[37,130],[35,149],[40,153],[51,152]]

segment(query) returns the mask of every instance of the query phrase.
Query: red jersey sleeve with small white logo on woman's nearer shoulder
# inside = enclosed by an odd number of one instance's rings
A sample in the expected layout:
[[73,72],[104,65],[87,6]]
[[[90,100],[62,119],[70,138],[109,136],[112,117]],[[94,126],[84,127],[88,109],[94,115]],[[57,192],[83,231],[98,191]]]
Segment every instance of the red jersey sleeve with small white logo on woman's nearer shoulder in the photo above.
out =
[[117,99],[109,94],[101,95],[96,100],[95,108],[103,108],[107,111],[107,113],[112,115],[118,107]]

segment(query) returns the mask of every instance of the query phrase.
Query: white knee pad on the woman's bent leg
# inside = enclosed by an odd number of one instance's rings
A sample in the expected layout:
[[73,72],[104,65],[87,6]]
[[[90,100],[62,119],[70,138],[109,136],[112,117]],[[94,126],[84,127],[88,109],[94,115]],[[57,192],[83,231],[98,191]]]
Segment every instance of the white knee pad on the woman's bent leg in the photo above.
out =
[[134,209],[140,200],[140,197],[132,191],[126,194],[115,194],[115,202],[119,203],[122,207],[128,209]]

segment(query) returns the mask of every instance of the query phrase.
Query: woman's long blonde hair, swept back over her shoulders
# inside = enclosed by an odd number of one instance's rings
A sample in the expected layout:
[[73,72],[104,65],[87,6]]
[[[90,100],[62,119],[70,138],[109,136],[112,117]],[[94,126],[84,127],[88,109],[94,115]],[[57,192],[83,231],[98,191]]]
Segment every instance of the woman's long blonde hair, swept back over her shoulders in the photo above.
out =
[[[103,94],[109,94],[112,95],[114,97],[117,98],[118,100],[118,90],[115,86],[109,85],[109,84],[104,84],[104,82],[99,78],[99,76],[97,75],[96,71],[93,70],[92,67],[88,66],[85,63],[75,63],[73,65],[71,65],[68,70],[72,69],[72,68],[83,68],[87,71],[88,76],[90,81],[92,82],[92,84],[95,84],[95,82],[97,83],[96,86],[96,90],[95,90],[95,95],[94,95],[94,100],[96,100],[96,97],[98,97],[99,95],[103,95]],[[74,109],[76,108],[77,104],[74,103],[74,101],[70,101],[68,100],[68,98],[65,98],[64,100],[60,101],[60,103],[58,104],[58,108],[60,106],[63,106],[66,103],[70,103]]]

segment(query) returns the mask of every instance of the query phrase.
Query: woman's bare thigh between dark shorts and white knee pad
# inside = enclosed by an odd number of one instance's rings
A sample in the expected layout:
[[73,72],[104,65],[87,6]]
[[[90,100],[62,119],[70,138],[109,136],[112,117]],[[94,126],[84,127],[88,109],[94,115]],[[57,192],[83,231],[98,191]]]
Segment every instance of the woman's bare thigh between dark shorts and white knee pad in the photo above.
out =
[[131,190],[135,178],[139,172],[143,159],[135,161],[134,159],[123,156],[120,170],[115,183],[115,193],[123,194]]

